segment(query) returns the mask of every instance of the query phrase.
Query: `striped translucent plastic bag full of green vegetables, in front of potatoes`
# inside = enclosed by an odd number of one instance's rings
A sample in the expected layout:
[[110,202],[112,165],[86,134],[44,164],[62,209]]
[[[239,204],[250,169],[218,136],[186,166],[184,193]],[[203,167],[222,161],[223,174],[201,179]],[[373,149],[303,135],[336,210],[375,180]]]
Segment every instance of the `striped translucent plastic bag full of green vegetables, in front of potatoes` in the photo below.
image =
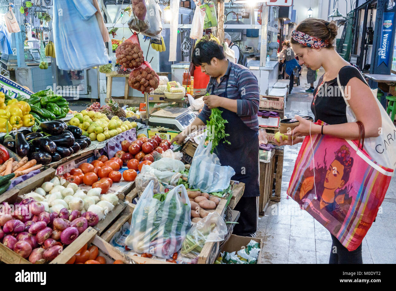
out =
[[150,182],[133,211],[125,244],[137,253],[168,259],[179,251],[190,230],[190,200],[183,185],[170,190],[163,202],[153,198],[153,194]]

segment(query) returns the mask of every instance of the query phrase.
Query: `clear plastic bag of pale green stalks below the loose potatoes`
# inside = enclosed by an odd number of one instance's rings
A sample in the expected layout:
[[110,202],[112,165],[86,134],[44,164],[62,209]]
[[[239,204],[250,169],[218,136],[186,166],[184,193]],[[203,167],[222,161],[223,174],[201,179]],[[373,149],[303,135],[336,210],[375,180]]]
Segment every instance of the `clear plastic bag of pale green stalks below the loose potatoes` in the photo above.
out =
[[205,243],[221,242],[227,233],[228,229],[224,219],[219,213],[211,212],[191,226],[181,246],[181,254],[194,259],[201,253]]

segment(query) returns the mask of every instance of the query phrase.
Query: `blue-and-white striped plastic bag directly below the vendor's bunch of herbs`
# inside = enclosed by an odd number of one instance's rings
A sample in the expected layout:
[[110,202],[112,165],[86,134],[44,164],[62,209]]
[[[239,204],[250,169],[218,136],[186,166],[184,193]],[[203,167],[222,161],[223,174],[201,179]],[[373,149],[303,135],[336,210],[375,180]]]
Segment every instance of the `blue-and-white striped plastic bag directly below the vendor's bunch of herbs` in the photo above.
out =
[[207,131],[205,131],[194,158],[192,158],[188,183],[202,192],[223,191],[230,185],[231,177],[235,175],[235,171],[230,166],[222,166],[217,155],[210,153],[212,142],[209,141],[205,146],[206,136]]

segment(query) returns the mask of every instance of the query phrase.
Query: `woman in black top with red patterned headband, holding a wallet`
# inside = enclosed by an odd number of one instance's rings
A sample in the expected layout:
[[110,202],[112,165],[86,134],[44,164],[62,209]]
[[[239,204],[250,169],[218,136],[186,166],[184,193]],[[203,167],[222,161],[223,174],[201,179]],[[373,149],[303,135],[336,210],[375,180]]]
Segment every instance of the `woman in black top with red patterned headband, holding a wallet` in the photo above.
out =
[[[311,110],[315,122],[322,120],[328,125],[319,126],[296,115],[300,124],[289,134],[297,137],[293,141],[281,141],[278,145],[300,143],[306,135],[314,134],[349,140],[359,138],[358,124],[346,119],[346,103],[337,84],[337,76],[352,111],[364,125],[366,137],[379,136],[381,112],[360,71],[335,51],[333,43],[337,30],[333,21],[307,18],[291,33],[291,46],[299,57],[300,65],[305,64],[312,70],[320,67],[325,70],[314,91]],[[331,235],[331,239],[330,264],[362,264],[362,245],[348,251],[335,236]]]

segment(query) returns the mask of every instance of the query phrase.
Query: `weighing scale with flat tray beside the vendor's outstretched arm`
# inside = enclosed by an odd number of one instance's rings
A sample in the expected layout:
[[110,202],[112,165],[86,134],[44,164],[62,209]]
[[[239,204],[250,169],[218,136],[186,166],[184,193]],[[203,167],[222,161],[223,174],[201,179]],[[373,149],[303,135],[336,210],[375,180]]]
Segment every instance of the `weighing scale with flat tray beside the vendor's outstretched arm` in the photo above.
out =
[[195,114],[189,108],[165,107],[150,114],[148,119],[149,126],[164,126],[174,130],[182,131],[194,119]]

